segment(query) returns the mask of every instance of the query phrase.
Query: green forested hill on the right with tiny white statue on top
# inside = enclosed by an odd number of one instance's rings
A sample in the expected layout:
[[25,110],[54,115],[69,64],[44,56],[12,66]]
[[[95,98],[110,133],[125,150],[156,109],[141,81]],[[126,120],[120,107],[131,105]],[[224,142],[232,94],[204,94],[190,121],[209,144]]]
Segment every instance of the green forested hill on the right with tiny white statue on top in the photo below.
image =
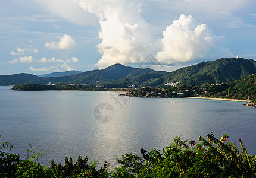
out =
[[201,85],[216,81],[229,82],[255,73],[256,61],[252,59],[222,58],[177,69],[162,78],[149,80],[144,85],[155,87],[177,81],[180,81],[182,85]]

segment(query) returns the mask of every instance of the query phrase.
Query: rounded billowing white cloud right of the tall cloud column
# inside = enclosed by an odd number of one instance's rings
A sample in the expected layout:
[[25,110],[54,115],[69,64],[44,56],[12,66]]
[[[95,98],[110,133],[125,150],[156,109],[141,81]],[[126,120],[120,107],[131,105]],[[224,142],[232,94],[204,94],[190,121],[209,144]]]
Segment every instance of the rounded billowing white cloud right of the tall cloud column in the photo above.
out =
[[[159,62],[173,64],[209,57],[209,52],[223,48],[223,38],[217,37],[207,24],[200,24],[191,15],[180,15],[163,32],[163,48],[157,53]],[[223,53],[223,55],[226,55]]]

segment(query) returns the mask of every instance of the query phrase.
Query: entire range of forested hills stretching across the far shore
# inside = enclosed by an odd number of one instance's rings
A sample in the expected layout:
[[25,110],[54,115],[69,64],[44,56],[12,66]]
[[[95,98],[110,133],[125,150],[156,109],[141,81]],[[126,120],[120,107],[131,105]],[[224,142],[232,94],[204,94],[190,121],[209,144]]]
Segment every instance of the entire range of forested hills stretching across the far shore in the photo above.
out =
[[105,85],[110,88],[158,87],[169,82],[180,85],[201,85],[212,82],[229,82],[256,73],[256,61],[243,58],[223,58],[201,62],[173,72],[132,68],[121,64],[102,70],[86,71],[61,77],[38,77],[32,74],[0,75],[0,85],[15,84],[87,84]]

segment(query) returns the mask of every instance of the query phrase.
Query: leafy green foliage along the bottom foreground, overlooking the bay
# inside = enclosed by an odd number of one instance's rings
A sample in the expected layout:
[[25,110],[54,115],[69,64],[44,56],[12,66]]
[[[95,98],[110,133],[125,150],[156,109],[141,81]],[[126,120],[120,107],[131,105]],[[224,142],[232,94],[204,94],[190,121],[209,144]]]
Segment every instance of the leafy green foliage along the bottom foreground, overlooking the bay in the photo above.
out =
[[42,151],[35,154],[31,145],[26,160],[20,160],[19,155],[8,153],[13,148],[10,143],[0,142],[0,177],[256,177],[256,157],[247,154],[241,139],[241,151],[228,134],[220,139],[213,134],[199,136],[198,141],[183,141],[179,136],[163,152],[141,148],[141,157],[122,155],[117,159],[120,166],[112,171],[109,163],[97,170],[98,162],[88,164],[88,158],[80,155],[75,164],[65,157],[64,166],[54,160],[46,166],[38,162]]

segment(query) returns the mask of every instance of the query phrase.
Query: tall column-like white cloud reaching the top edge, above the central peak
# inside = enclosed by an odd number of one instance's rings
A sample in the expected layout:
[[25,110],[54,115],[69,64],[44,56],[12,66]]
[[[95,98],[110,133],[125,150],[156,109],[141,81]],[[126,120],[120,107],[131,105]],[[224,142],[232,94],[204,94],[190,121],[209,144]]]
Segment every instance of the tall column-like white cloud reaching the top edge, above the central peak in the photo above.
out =
[[136,1],[77,0],[86,11],[99,18],[102,39],[97,47],[102,57],[97,65],[138,63],[157,52],[157,39],[151,27],[141,17],[141,5]]

